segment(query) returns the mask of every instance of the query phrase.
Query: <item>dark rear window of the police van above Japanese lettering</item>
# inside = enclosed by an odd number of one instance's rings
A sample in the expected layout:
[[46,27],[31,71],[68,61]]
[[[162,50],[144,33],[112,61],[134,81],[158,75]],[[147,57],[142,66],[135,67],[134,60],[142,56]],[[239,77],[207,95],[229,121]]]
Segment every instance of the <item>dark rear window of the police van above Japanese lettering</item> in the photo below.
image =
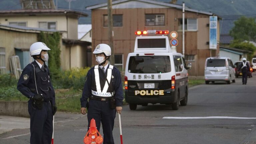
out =
[[131,56],[129,73],[167,73],[171,71],[169,56]]

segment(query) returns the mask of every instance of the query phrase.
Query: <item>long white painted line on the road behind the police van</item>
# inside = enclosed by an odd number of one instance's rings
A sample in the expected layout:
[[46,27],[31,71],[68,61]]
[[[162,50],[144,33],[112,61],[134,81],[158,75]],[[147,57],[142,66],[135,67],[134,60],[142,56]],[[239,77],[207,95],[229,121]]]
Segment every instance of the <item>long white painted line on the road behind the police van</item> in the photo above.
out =
[[163,117],[163,119],[256,119],[256,117],[209,116],[209,117]]

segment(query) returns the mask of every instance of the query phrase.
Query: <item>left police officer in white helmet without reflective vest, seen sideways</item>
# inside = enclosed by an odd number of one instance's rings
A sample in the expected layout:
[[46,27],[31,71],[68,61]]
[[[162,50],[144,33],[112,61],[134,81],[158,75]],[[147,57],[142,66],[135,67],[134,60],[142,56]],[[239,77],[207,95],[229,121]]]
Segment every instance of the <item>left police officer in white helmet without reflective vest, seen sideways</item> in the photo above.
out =
[[51,143],[53,115],[57,111],[49,68],[45,65],[49,58],[47,50],[51,49],[42,42],[30,46],[30,56],[35,61],[23,69],[17,84],[17,89],[29,98],[31,144]]

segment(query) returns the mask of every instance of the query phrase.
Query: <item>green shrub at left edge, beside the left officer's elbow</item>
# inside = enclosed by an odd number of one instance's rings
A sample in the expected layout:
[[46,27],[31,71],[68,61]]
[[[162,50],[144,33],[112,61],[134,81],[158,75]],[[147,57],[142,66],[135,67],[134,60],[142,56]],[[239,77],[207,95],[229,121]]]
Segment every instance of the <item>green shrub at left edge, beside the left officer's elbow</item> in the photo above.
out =
[[0,87],[9,87],[16,85],[18,80],[12,74],[2,74],[0,75]]

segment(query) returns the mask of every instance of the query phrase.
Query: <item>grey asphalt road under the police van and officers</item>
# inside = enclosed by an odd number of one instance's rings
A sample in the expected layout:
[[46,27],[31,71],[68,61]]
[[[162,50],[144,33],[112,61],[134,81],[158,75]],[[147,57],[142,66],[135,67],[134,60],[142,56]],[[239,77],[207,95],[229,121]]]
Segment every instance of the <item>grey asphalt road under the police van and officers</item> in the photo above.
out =
[[[230,85],[220,82],[192,87],[188,105],[180,106],[177,111],[170,105],[160,104],[138,106],[135,111],[124,106],[121,115],[123,143],[244,144],[256,133],[256,73],[248,78],[247,85],[242,85],[241,81],[237,78],[236,83]],[[187,117],[192,118],[185,119]],[[83,144],[86,116],[57,113],[56,121],[55,144]],[[120,144],[118,115],[113,135],[115,143]],[[15,129],[0,135],[0,143],[27,144],[29,136],[29,129]]]

